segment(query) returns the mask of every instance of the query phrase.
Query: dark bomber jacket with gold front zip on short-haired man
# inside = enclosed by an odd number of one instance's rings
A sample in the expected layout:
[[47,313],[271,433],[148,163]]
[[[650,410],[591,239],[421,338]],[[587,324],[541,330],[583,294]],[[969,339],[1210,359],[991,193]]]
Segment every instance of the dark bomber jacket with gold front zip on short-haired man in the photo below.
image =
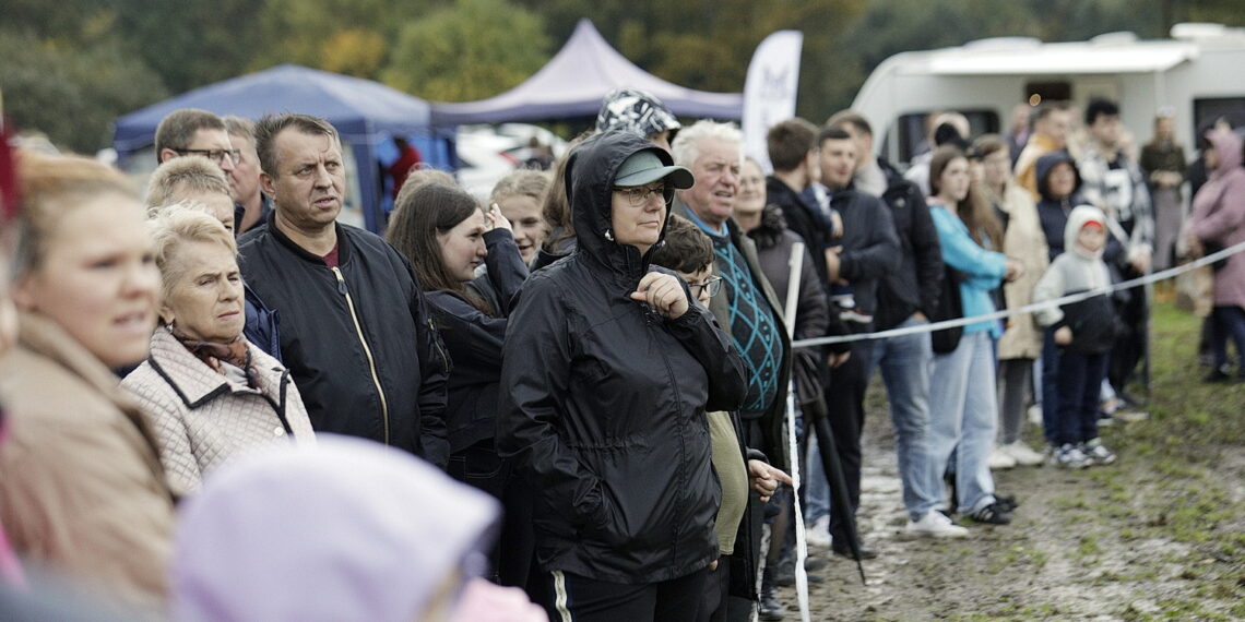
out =
[[337,224],[339,267],[274,224],[245,234],[243,276],[281,313],[283,362],[319,432],[370,438],[444,466],[449,358],[411,272],[385,240]]

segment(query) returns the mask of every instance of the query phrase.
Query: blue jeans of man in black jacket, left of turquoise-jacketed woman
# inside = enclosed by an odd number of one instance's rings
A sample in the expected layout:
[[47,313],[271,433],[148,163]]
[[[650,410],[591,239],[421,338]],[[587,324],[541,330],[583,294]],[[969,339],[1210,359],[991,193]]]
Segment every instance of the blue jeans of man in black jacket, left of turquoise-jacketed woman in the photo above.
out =
[[[923,326],[929,322],[909,317],[898,328]],[[881,368],[890,402],[890,420],[895,427],[895,453],[899,479],[904,483],[904,508],[911,520],[920,520],[937,505],[939,495],[930,481],[939,478],[930,470],[930,373],[934,348],[930,333],[903,335],[878,340],[873,346],[873,364]]]

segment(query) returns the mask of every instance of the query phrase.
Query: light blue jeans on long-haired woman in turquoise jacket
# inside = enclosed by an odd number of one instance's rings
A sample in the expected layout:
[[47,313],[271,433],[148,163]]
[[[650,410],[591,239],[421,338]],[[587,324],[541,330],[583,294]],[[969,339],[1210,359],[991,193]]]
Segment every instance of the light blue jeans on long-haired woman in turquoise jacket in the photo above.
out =
[[[995,503],[987,464],[998,425],[994,338],[966,332],[960,345],[934,356],[930,382],[930,490],[942,490],[942,474],[955,459],[956,511],[975,513]],[[941,494],[939,494],[941,496]]]

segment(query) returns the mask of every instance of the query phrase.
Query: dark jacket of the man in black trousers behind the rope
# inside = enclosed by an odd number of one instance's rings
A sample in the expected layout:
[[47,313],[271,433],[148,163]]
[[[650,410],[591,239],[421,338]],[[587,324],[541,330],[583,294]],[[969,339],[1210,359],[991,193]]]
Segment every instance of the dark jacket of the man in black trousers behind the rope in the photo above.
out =
[[[815,202],[812,188],[802,197],[807,203]],[[865,315],[873,315],[878,309],[878,284],[899,267],[900,260],[890,209],[881,199],[852,188],[833,193],[830,207],[843,218],[839,277],[852,284],[857,307]],[[787,220],[787,225],[803,238],[803,231],[792,223]]]

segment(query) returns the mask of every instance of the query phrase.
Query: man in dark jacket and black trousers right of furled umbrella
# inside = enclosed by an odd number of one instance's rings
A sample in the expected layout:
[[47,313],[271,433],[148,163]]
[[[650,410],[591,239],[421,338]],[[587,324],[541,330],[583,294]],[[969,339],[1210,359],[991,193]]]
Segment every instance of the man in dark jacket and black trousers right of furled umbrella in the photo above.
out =
[[[876,309],[879,284],[899,267],[899,240],[890,210],[878,198],[852,189],[857,147],[847,132],[823,129],[818,134],[818,146],[822,183],[810,187],[803,197],[823,213],[828,214],[833,208],[843,218],[842,244],[825,248],[820,255],[825,280],[850,284],[858,312],[872,316]],[[824,238],[824,233],[801,231],[794,221],[789,224],[806,240],[818,235]],[[873,322],[857,322],[857,332],[869,332]],[[850,353],[850,358],[830,374],[825,406],[854,511],[860,505],[860,430],[864,427],[864,393],[869,387],[873,343],[853,342]],[[849,555],[844,518],[830,516],[829,527],[832,550],[838,555]],[[862,547],[860,552],[865,557],[875,556],[869,549]]]

